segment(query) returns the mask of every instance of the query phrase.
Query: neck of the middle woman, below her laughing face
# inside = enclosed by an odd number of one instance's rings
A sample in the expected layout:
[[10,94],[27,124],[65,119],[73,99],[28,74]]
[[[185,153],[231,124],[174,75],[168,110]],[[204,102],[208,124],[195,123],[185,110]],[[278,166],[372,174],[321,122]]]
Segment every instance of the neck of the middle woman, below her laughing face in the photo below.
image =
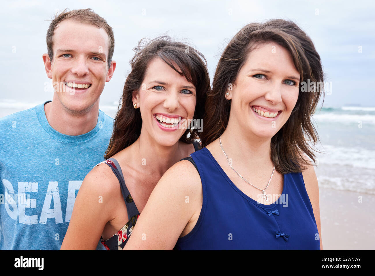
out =
[[141,130],[141,135],[134,142],[134,159],[142,164],[141,170],[147,174],[158,175],[159,178],[183,156],[180,142],[172,146],[163,146]]

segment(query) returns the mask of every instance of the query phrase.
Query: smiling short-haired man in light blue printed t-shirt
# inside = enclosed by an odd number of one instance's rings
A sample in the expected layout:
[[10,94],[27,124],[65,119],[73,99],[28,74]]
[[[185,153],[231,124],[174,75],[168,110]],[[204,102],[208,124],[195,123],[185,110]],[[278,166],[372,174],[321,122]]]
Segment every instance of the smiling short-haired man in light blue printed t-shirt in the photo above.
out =
[[116,68],[112,28],[91,9],[65,10],[46,40],[52,101],[0,118],[0,250],[60,249],[78,189],[112,134],[99,110]]

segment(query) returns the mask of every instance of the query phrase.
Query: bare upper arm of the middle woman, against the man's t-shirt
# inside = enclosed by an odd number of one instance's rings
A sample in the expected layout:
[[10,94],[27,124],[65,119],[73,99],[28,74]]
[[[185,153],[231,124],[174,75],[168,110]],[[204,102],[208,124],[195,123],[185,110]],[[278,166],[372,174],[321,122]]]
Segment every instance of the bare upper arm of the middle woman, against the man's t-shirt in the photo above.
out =
[[114,209],[111,198],[118,192],[114,185],[116,181],[117,178],[105,164],[86,175],[75,199],[68,231],[60,250],[96,249],[104,226],[112,219]]

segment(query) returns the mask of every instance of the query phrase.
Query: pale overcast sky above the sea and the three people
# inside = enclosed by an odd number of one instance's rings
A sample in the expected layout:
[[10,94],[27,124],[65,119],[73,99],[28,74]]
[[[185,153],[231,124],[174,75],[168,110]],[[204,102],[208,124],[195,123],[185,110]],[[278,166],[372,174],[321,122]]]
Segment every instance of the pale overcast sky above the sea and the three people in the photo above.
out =
[[[374,1],[2,1],[0,102],[41,103],[42,54],[46,30],[57,10],[92,8],[113,27],[117,62],[101,105],[118,101],[129,72],[133,47],[143,37],[168,34],[184,39],[207,59],[211,82],[226,43],[244,25],[271,18],[293,20],[312,39],[321,56],[332,94],[324,106],[375,106]],[[359,52],[361,46],[362,52]]]

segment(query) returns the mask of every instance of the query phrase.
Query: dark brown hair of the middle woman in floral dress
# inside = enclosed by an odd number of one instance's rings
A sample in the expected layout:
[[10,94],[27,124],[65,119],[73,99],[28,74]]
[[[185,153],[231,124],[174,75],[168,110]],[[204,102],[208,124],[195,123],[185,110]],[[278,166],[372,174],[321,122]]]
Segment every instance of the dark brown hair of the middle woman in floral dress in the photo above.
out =
[[[136,54],[130,60],[132,70],[125,81],[114,120],[112,137],[104,155],[105,159],[133,144],[141,134],[141,113],[139,108],[133,107],[132,93],[140,89],[147,67],[154,58],[161,58],[178,74],[194,84],[196,104],[193,119],[200,120],[205,113],[206,95],[211,87],[206,67],[207,61],[200,52],[184,43],[172,41],[168,36],[159,36],[153,40],[142,39],[133,51]],[[175,68],[174,64],[180,71]],[[192,143],[194,139],[199,138],[200,134],[196,128],[187,129],[180,141]]]

